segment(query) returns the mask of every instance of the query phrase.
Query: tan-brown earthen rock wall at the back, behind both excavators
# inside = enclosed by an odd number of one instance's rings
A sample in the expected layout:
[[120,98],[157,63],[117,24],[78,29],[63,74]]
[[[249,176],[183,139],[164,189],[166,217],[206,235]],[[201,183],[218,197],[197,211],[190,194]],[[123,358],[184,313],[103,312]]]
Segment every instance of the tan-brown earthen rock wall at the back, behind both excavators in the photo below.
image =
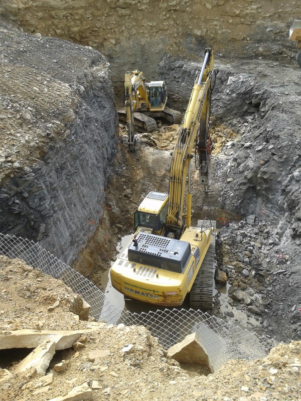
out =
[[[295,59],[288,40],[298,2],[281,0],[3,0],[0,13],[31,33],[92,46],[112,63],[121,94],[124,72],[157,78],[162,55],[198,60],[212,46],[226,58]],[[150,62],[151,60],[151,62]]]

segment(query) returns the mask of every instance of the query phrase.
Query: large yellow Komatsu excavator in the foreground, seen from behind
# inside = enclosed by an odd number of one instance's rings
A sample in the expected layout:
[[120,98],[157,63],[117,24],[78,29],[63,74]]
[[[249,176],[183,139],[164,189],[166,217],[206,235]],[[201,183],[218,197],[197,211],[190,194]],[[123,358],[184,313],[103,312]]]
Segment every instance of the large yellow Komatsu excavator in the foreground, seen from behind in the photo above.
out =
[[197,72],[185,118],[178,130],[169,193],[149,192],[142,200],[134,213],[135,234],[110,269],[113,287],[125,298],[179,306],[189,293],[191,307],[212,308],[215,222],[205,219],[199,227],[190,225],[194,156],[200,183],[209,184],[213,147],[209,116],[214,78],[213,52],[206,49],[202,69]]

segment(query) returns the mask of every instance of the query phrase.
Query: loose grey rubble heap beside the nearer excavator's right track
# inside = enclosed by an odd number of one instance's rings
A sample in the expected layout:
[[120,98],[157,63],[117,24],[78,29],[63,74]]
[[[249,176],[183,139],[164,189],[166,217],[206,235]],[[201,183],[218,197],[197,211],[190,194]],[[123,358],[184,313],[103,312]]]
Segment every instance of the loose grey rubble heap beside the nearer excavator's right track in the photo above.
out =
[[[270,223],[258,221],[254,215],[224,225],[217,235],[216,281],[221,287],[228,279],[229,305],[234,310],[255,316],[265,334],[289,340],[301,337],[299,282],[295,275],[299,265],[298,255],[283,248],[279,239]],[[224,314],[234,317],[231,308]]]

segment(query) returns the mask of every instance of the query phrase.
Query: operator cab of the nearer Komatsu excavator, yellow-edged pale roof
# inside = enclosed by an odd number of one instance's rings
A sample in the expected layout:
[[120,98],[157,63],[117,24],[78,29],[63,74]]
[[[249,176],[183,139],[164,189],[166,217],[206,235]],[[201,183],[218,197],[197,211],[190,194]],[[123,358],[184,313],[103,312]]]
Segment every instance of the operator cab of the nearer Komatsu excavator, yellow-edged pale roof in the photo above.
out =
[[134,213],[135,230],[137,227],[152,229],[153,233],[161,232],[168,211],[168,194],[149,192]]

